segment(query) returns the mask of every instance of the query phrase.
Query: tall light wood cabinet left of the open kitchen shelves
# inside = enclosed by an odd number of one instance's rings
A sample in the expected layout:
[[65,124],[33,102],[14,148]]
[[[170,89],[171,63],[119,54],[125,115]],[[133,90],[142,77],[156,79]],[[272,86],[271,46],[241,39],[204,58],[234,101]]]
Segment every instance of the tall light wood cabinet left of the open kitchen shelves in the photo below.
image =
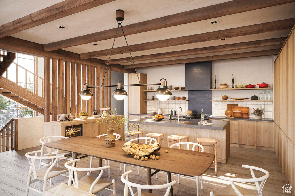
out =
[[[147,84],[147,75],[137,73],[140,83]],[[138,84],[136,73],[128,74],[128,84]],[[128,86],[128,113],[147,113],[147,86]]]

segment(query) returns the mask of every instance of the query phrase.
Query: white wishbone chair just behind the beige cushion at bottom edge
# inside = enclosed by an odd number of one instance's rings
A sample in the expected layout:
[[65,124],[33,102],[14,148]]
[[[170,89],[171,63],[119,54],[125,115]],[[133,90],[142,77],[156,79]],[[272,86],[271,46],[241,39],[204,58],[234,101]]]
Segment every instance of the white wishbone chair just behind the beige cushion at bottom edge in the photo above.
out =
[[[73,187],[81,189],[83,191],[96,194],[97,192],[107,189],[107,190],[112,190],[113,194],[109,196],[116,196],[116,187],[115,187],[115,180],[113,179],[112,182],[106,181],[101,179],[102,173],[104,170],[108,169],[110,166],[104,166],[104,167],[94,167],[94,168],[80,168],[80,167],[75,167],[75,162],[78,162],[80,159],[74,159],[67,161],[65,163],[65,167],[69,171],[69,180],[68,180],[68,185],[71,185],[71,182],[73,181]],[[72,166],[69,164],[72,163]],[[78,175],[77,171],[81,172],[87,172],[87,175],[78,180]],[[97,177],[90,176],[90,171],[100,171],[99,175]],[[73,177],[74,174],[74,177]],[[108,188],[109,186],[112,185],[113,189]]]

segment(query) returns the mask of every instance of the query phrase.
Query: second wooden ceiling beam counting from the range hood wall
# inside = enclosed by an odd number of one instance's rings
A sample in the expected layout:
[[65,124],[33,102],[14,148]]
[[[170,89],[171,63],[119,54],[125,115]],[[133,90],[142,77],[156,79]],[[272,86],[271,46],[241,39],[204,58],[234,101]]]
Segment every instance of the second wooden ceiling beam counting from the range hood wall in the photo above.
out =
[[[149,55],[142,55],[142,56],[133,56],[132,59],[134,62],[136,62],[136,61],[147,61],[147,60],[155,60],[155,59],[170,58],[170,57],[177,57],[177,56],[206,54],[206,53],[212,53],[212,52],[222,52],[222,51],[240,50],[240,49],[248,49],[248,48],[260,48],[260,47],[266,47],[266,46],[278,46],[278,45],[283,46],[283,43],[285,43],[286,39],[287,37],[280,37],[280,38],[263,39],[263,40],[257,40],[257,41],[247,41],[247,42],[241,42],[241,43],[232,43],[232,44],[210,46],[210,47],[204,47],[204,48],[194,48],[189,50],[164,52],[164,53],[149,54]],[[131,57],[111,59],[109,60],[109,65],[117,64],[117,63],[130,63],[132,62],[132,59]],[[107,62],[108,61],[105,61],[105,64],[107,64]]]

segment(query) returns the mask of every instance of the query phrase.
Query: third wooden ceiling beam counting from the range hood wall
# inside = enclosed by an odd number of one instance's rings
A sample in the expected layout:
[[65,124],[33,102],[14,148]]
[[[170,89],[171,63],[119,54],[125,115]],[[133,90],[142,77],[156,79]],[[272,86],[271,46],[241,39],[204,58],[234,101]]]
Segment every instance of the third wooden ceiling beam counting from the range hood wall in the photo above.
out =
[[[295,24],[295,18],[284,19],[284,20],[254,24],[249,26],[236,27],[232,29],[224,29],[224,30],[212,31],[208,33],[200,33],[200,34],[195,34],[190,36],[152,41],[148,43],[140,43],[140,44],[131,45],[129,46],[129,48],[131,52],[136,52],[136,51],[151,50],[156,48],[165,48],[170,46],[179,46],[179,45],[184,45],[189,43],[213,41],[213,40],[218,40],[222,38],[239,37],[239,36],[253,35],[258,33],[266,33],[271,31],[292,29],[294,24]],[[107,56],[110,54],[110,52],[111,52],[111,49],[81,53],[80,58],[86,59],[86,58]],[[112,54],[120,54],[120,53],[128,53],[128,52],[129,51],[127,46],[113,48],[112,50]]]

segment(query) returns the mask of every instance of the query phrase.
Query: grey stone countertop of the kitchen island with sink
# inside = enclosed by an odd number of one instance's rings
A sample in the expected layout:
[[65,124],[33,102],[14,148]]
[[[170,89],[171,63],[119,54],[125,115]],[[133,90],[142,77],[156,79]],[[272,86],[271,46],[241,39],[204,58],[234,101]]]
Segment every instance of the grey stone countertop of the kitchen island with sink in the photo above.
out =
[[190,122],[190,124],[183,124],[181,120],[173,118],[175,120],[169,120],[169,118],[164,118],[161,121],[156,121],[152,117],[139,118],[134,120],[129,120],[130,123],[136,123],[142,121],[143,124],[146,125],[159,125],[159,126],[168,126],[168,127],[183,127],[183,128],[196,128],[196,129],[211,129],[211,130],[224,130],[230,124],[228,121],[220,121],[220,120],[207,120],[214,125],[200,125],[198,122],[200,120],[195,119],[185,119],[184,121]]

